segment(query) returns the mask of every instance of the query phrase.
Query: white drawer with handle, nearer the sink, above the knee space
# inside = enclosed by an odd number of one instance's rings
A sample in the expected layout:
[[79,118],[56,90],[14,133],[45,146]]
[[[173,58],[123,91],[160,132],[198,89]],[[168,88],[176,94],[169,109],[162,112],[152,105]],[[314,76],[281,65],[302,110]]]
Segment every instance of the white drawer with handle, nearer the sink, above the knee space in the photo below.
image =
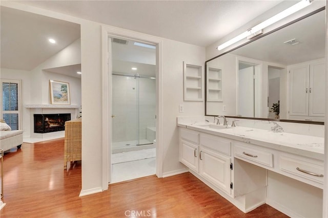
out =
[[268,151],[263,151],[259,147],[245,146],[243,143],[235,143],[235,158],[257,163],[256,165],[264,165],[273,167],[273,154]]

